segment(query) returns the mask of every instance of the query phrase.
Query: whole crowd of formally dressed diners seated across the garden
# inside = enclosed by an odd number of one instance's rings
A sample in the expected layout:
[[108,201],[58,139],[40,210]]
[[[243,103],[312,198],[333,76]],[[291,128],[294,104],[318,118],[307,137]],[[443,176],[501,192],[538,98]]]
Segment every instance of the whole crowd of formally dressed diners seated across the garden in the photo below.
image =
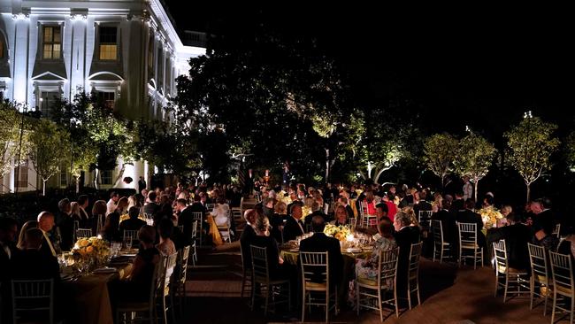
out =
[[[284,197],[278,197],[280,194]],[[234,235],[242,245],[244,265],[250,264],[250,245],[265,247],[269,251],[268,256],[277,260],[272,262],[272,274],[296,282],[297,272],[280,258],[279,246],[313,232],[314,235],[301,242],[300,251],[328,251],[332,279],[339,282],[343,275],[340,245],[334,238],[324,235],[323,229],[326,223],[351,225],[352,220],[357,220],[358,210],[363,209],[365,214],[377,216],[377,225],[362,228],[361,224],[354,224],[357,231],[373,235],[375,242],[372,256],[357,260],[357,275],[373,278],[378,252],[398,246],[397,285],[400,296],[404,293],[407,280],[404,274],[410,245],[422,239],[426,241],[424,244],[430,244],[429,238],[433,236],[422,235],[418,212],[432,211],[432,220],[441,220],[443,224],[445,240],[454,244],[457,242],[457,221],[476,223],[479,244],[485,248],[487,238],[482,233],[484,225],[477,210],[494,205],[495,201],[492,194],[487,194],[481,202],[475,202],[472,197],[465,197],[469,195],[464,195],[463,190],[449,195],[429,189],[407,186],[397,189],[393,185],[384,187],[375,184],[327,184],[321,189],[304,184],[284,188],[262,185],[249,192],[231,185],[196,187],[179,184],[165,189],[142,189],[127,197],[111,192],[108,201],[90,201],[84,195],[75,201],[64,198],[58,203],[58,212],[39,211],[36,220],[20,224],[18,220],[0,219],[3,300],[10,298],[8,287],[12,279],[54,278],[58,282],[57,256],[73,248],[76,228],[91,228],[94,235],[102,235],[110,242],[121,242],[125,230],[139,231],[140,251],[134,260],[133,274],[125,283],[133,282],[135,290],[132,291],[136,291],[137,287],[142,286],[139,283],[149,280],[149,269],[157,263],[160,255],[172,254],[191,243],[192,212],[203,212],[203,215],[211,213],[218,224],[231,222],[234,233],[236,224],[227,219],[230,217],[229,209],[240,206],[242,197],[247,199],[254,195],[258,203],[244,212],[246,225],[242,228],[241,237]],[[288,204],[285,203],[286,197],[289,197]],[[214,204],[210,211],[208,204]],[[303,215],[303,209],[310,210],[311,214]],[[547,198],[529,202],[524,211],[512,211],[509,205],[503,205],[501,210],[505,218],[498,221],[496,228],[489,228],[488,233],[492,238],[504,238],[510,244],[510,266],[528,266],[526,243],[562,251],[570,254],[571,258],[575,255],[572,221],[554,213]],[[144,213],[152,215],[152,225],[140,219]],[[561,245],[557,235],[552,235],[556,224],[562,224],[565,239]],[[204,232],[207,243],[210,242],[209,226],[203,221],[199,229]],[[132,297],[136,295],[142,297],[146,293],[129,294]],[[4,314],[10,312],[5,309],[10,307],[10,303],[3,302],[3,307]]]

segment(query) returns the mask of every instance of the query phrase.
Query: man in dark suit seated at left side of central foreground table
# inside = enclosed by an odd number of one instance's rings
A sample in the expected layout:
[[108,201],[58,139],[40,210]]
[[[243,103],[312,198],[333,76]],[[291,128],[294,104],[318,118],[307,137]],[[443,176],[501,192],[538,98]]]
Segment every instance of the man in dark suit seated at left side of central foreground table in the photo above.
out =
[[270,221],[265,216],[257,217],[254,228],[256,236],[253,237],[250,245],[265,248],[272,280],[287,278],[288,272],[283,267],[283,259],[280,258],[278,243],[270,236]]

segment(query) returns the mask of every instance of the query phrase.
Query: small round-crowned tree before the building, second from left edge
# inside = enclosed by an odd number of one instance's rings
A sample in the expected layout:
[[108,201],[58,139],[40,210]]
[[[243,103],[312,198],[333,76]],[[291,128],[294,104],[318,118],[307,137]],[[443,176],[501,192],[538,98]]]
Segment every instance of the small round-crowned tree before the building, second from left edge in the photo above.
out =
[[56,174],[70,147],[70,135],[50,120],[41,119],[30,135],[29,158],[36,174],[42,179],[42,195],[46,195],[46,181]]

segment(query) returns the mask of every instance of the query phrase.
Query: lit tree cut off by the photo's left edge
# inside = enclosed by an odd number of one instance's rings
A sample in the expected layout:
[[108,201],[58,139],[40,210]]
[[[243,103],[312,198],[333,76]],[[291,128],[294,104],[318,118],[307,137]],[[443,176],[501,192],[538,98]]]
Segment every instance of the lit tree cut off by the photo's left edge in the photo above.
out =
[[22,118],[12,103],[0,102],[0,179],[10,172],[12,159],[17,158]]

